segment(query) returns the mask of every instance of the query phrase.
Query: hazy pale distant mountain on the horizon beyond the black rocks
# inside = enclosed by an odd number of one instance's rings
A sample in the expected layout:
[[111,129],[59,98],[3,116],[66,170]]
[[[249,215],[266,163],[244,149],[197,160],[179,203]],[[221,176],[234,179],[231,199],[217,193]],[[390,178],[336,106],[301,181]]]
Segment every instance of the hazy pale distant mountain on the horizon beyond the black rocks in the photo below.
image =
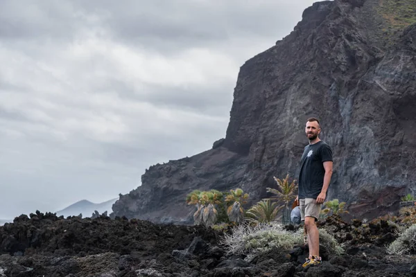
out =
[[64,217],[68,217],[70,215],[79,215],[82,213],[83,217],[91,217],[94,211],[98,211],[100,214],[107,211],[107,213],[110,215],[110,213],[112,213],[112,204],[114,204],[116,200],[117,198],[114,198],[99,204],[89,202],[88,200],[81,200],[75,204],[72,204],[71,206],[67,206],[67,208],[64,208],[61,211],[56,212],[56,215],[63,215]]

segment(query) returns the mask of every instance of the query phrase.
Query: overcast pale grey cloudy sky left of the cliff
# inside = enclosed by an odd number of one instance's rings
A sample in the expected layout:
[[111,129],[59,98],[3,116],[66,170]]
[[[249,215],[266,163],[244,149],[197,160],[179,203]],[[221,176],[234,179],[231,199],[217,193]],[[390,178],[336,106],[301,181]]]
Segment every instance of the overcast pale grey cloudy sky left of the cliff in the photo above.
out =
[[0,219],[104,202],[223,138],[311,0],[0,1]]

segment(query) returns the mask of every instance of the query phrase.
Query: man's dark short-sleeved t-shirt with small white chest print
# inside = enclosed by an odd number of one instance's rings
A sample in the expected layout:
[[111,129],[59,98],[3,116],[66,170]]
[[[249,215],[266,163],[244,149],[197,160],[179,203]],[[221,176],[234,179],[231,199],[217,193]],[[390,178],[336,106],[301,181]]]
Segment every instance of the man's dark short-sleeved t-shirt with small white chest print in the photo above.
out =
[[324,141],[306,145],[300,161],[299,199],[316,199],[324,185],[324,161],[332,161],[332,150]]

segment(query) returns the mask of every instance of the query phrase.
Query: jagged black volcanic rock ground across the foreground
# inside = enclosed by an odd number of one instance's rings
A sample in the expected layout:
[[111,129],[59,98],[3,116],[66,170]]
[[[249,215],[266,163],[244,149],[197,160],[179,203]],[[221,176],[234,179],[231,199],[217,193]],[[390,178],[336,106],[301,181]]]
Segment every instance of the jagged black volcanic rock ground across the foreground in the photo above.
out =
[[416,276],[416,256],[385,253],[397,236],[395,224],[329,217],[321,228],[333,232],[345,253],[327,256],[322,249],[323,264],[303,269],[302,245],[248,262],[227,256],[218,243],[222,233],[202,226],[21,215],[0,227],[0,276]]

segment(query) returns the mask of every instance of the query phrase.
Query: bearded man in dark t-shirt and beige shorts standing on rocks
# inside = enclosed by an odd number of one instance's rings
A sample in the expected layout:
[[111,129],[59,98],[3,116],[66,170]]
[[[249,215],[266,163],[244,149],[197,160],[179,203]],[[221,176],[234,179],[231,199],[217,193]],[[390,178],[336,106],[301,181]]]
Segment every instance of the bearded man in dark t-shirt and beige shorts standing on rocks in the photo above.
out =
[[332,150],[318,137],[321,132],[319,120],[309,118],[305,132],[309,145],[304,148],[300,161],[299,193],[296,198],[300,202],[300,215],[309,244],[309,258],[306,258],[303,267],[322,262],[319,256],[319,231],[315,222],[318,221],[322,203],[327,197],[332,176]]

